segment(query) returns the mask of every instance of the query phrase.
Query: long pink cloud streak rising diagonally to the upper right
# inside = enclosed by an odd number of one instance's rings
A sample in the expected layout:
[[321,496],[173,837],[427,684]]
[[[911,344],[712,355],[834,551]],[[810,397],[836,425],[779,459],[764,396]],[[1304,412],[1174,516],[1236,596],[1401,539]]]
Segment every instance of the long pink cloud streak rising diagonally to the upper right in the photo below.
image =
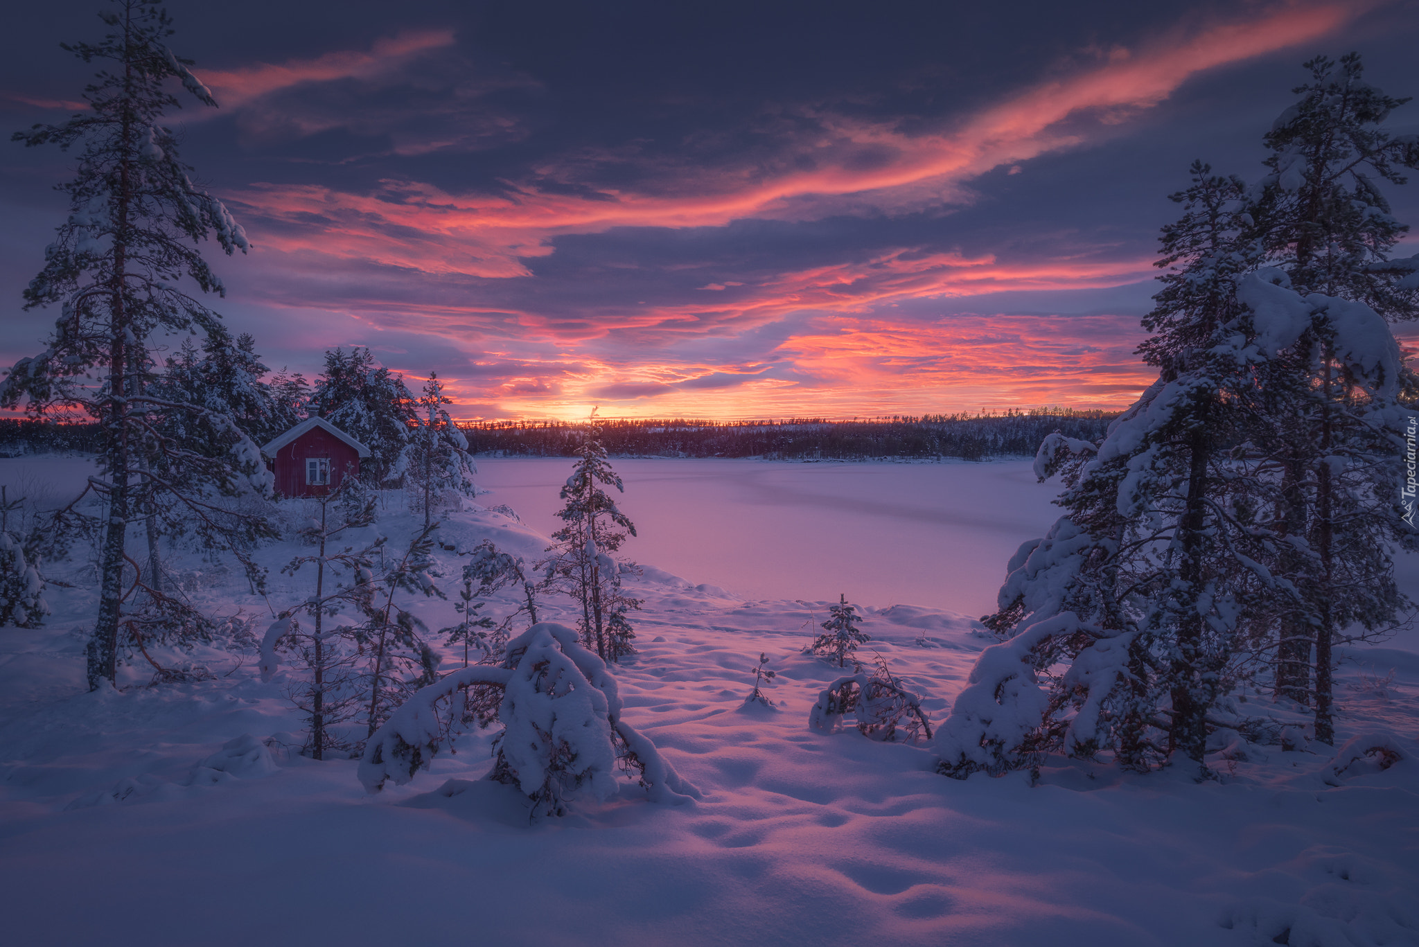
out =
[[[753,169],[683,169],[674,193],[606,190],[597,197],[548,193],[532,186],[511,196],[453,195],[419,182],[383,182],[377,193],[332,187],[261,185],[241,199],[257,214],[292,224],[267,246],[372,260],[427,273],[480,277],[528,275],[522,258],[551,253],[561,234],[612,227],[724,226],[744,217],[817,219],[854,210],[907,212],[961,200],[962,185],[992,168],[1083,143],[1078,116],[1110,121],[1158,105],[1198,72],[1296,45],[1335,30],[1366,4],[1284,4],[1260,16],[1161,38],[1137,51],[1115,51],[1100,67],[1050,80],[966,116],[951,129],[907,135],[874,125],[817,115],[812,141],[789,141],[783,168],[810,158],[812,170],[763,177]],[[447,34],[412,34],[376,44],[370,54],[328,54],[305,64],[253,67],[253,88],[270,89],[307,78],[375,68],[451,41]],[[217,74],[238,88],[247,72]],[[240,81],[238,81],[240,77]],[[873,160],[864,160],[870,155]],[[578,159],[580,162],[582,159]],[[548,176],[573,175],[543,168]],[[305,223],[324,219],[324,227]],[[399,236],[393,236],[399,234]]]

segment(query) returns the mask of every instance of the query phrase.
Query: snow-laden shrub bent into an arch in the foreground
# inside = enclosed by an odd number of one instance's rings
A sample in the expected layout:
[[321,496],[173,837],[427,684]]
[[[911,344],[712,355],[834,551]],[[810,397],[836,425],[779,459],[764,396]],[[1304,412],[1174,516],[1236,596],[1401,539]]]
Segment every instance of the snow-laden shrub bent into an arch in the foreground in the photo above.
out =
[[657,802],[700,795],[622,720],[606,662],[582,647],[575,630],[553,622],[514,639],[502,666],[464,667],[414,693],[369,738],[360,782],[369,792],[389,781],[409,782],[429,768],[453,730],[485,726],[494,714],[504,730],[490,778],[518,787],[535,812],[561,815],[579,795],[607,798],[617,768],[636,775]]

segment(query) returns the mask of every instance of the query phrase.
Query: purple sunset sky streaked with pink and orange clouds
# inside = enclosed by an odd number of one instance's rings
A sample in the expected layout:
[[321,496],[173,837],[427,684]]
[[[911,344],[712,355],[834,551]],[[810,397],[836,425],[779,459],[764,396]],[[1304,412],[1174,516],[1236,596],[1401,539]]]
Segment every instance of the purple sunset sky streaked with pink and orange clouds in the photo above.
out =
[[[0,128],[75,108],[99,6],[7,13]],[[1189,162],[1254,177],[1318,53],[1419,94],[1412,0],[167,7],[221,105],[183,156],[254,244],[214,305],[272,368],[368,345],[470,419],[1121,406]],[[10,363],[68,163],[3,149]]]

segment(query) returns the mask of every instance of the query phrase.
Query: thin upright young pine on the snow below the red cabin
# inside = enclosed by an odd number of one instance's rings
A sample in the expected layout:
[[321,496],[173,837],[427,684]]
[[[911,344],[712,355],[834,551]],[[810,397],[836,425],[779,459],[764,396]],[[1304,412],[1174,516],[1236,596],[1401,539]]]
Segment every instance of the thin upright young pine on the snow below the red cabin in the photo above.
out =
[[[375,562],[385,538],[362,548],[332,545],[342,534],[375,522],[375,497],[356,481],[346,480],[338,491],[315,497],[315,503],[321,518],[299,532],[315,551],[295,557],[281,569],[294,576],[314,565],[315,589],[304,602],[277,615],[267,629],[260,670],[261,680],[270,681],[281,664],[281,655],[288,656],[302,679],[289,687],[287,697],[309,727],[305,750],[312,760],[324,760],[328,750],[349,745],[336,727],[358,714],[363,694],[355,667],[359,660],[355,626],[333,625],[333,620],[345,608],[366,615],[373,611]],[[301,622],[299,615],[305,615],[307,622]]]

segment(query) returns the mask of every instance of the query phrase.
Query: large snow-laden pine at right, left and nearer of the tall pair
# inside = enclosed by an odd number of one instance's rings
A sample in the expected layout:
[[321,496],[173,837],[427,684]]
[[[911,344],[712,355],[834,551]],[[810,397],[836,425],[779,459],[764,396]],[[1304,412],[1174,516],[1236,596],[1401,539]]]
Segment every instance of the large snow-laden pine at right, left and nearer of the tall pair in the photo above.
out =
[[1249,275],[1242,182],[1200,163],[1192,176],[1144,322],[1159,378],[1097,447],[1042,444],[1036,471],[1066,470],[1067,514],[1007,566],[986,625],[1010,637],[982,653],[941,728],[948,775],[1051,751],[1111,751],[1135,770],[1179,754],[1200,772],[1237,623],[1279,595],[1261,564],[1274,537],[1250,514],[1273,493],[1230,449],[1257,412],[1257,366],[1288,341],[1239,298],[1239,281],[1267,298]]

